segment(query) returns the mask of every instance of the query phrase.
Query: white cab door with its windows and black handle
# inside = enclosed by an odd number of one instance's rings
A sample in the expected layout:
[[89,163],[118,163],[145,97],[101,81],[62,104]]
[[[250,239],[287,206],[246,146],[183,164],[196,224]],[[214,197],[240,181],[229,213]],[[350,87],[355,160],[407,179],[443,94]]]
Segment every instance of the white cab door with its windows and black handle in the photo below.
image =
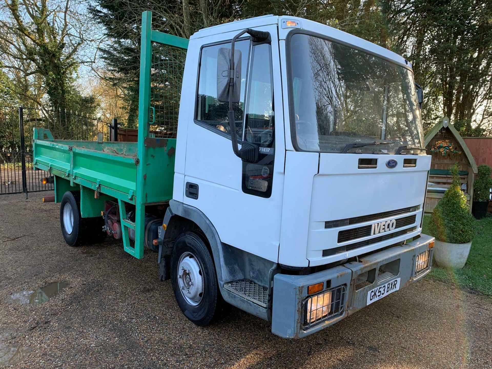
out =
[[234,109],[238,140],[257,144],[260,161],[246,163],[233,153],[228,104],[216,99],[217,53],[230,48],[234,34],[209,36],[188,124],[183,198],[212,221],[223,243],[277,262],[285,154],[277,26],[253,28],[270,32],[272,41],[236,42],[242,83]]

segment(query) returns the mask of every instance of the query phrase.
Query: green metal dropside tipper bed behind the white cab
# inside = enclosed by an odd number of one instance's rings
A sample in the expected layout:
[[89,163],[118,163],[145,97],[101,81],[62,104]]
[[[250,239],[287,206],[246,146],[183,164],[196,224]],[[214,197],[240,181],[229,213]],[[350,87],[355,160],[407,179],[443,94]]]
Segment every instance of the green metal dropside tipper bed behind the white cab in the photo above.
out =
[[[66,180],[70,186],[86,186],[131,204],[139,199],[144,204],[161,203],[173,197],[176,139],[152,140],[157,147],[146,148],[141,159],[136,142],[54,140],[51,132],[34,128],[34,164],[59,177],[57,184]],[[137,193],[140,163],[147,170],[141,181],[143,191]],[[57,202],[65,191],[55,189]]]

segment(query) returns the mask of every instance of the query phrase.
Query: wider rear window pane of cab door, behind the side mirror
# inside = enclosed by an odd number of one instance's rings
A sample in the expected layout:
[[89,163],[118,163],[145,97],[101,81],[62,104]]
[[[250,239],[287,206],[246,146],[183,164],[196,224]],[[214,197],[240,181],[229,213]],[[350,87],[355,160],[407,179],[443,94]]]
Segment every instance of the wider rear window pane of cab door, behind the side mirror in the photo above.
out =
[[[241,98],[234,104],[238,138],[242,138],[243,113],[246,89],[246,72],[249,54],[249,39],[237,41],[235,48],[241,50]],[[217,100],[217,53],[221,47],[230,47],[230,43],[206,46],[202,48],[198,77],[198,97],[196,120],[222,132],[230,133],[227,112],[229,105]]]

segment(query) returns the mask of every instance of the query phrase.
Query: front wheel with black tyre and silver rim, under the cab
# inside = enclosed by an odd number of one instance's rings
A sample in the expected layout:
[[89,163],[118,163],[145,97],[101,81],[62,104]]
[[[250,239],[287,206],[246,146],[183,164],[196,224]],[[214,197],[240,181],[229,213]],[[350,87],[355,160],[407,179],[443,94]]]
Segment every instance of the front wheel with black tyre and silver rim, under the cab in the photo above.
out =
[[171,255],[171,283],[178,306],[202,327],[214,322],[225,304],[205,242],[196,233],[184,232],[176,239]]

